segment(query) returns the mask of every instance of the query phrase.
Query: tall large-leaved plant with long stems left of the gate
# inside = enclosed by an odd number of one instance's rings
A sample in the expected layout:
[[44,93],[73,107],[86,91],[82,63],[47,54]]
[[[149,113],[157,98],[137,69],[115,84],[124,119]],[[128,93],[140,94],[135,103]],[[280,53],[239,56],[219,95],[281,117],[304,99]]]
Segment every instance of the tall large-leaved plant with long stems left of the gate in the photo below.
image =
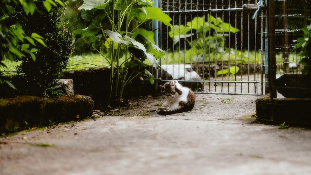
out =
[[143,74],[154,82],[148,71],[148,60],[155,68],[160,68],[157,59],[164,52],[155,45],[153,32],[139,28],[147,20],[158,20],[170,25],[170,17],[159,8],[151,7],[151,0],[85,0],[79,7],[87,24],[77,29],[73,35],[84,39],[109,64],[110,94],[112,101],[122,101],[125,86],[137,75]]

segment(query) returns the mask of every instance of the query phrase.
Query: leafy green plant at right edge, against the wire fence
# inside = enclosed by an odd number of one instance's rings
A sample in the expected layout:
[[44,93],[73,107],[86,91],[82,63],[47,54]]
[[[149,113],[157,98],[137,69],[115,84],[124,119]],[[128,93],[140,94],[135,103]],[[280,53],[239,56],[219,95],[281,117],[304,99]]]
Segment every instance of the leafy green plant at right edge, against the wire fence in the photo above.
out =
[[311,24],[300,30],[304,32],[304,36],[297,39],[298,43],[295,44],[294,50],[300,48],[299,56],[304,57],[299,61],[303,65],[301,73],[309,75],[311,74]]

